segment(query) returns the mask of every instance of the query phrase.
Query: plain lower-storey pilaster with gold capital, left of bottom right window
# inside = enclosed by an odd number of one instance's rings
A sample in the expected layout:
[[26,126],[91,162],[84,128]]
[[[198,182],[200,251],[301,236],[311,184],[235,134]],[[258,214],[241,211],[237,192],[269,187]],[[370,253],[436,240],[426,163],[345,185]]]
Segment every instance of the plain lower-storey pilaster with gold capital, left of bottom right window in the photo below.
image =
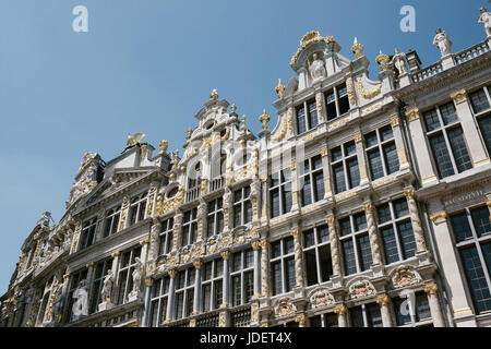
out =
[[[448,284],[448,298],[451,306],[454,311],[453,317],[457,327],[459,326],[476,326],[475,320],[468,320],[474,315],[471,310],[471,302],[466,293],[465,275],[460,272],[458,266],[457,254],[454,248],[453,237],[447,224],[446,212],[440,210],[430,215],[431,225],[433,228],[433,236],[435,244],[439,246],[441,258],[442,274],[446,275],[446,282]],[[452,277],[448,277],[452,276]],[[462,320],[459,321],[459,317]]]

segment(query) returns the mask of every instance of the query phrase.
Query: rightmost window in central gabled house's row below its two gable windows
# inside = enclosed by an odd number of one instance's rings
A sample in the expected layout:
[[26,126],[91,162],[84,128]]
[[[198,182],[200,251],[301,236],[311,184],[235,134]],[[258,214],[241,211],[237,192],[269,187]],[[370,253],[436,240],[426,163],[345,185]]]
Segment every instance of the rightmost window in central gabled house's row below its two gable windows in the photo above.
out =
[[399,170],[399,158],[391,125],[366,134],[364,143],[372,181]]

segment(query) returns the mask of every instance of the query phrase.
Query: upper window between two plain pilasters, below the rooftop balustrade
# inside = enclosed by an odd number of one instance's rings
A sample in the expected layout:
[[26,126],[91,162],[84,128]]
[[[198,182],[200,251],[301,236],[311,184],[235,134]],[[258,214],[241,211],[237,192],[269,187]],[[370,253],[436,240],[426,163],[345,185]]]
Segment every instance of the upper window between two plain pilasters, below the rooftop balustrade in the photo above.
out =
[[422,119],[440,178],[472,168],[453,103],[423,112]]

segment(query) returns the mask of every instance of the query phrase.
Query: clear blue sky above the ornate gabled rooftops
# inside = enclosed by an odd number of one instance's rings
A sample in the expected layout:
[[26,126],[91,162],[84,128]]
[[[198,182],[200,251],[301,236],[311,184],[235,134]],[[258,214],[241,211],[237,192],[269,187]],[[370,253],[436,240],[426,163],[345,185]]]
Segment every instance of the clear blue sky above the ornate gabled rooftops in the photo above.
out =
[[[75,33],[75,5],[88,9],[88,33]],[[403,33],[399,10],[416,9]],[[352,58],[354,37],[371,60],[417,49],[429,65],[442,27],[454,52],[484,39],[484,0],[2,0],[0,2],[0,293],[20,248],[44,210],[63,215],[82,157],[108,161],[129,132],[158,147],[181,148],[213,88],[248,116],[266,108],[270,129],[277,79],[294,76],[290,58],[309,31],[332,35]]]

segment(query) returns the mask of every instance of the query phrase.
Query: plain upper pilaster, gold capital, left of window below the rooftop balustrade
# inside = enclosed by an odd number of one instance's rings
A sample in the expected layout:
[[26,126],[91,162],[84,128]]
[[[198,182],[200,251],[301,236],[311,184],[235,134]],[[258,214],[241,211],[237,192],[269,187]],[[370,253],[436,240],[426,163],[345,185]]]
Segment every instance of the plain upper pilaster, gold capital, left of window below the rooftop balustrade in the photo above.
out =
[[418,108],[414,108],[406,112],[409,125],[410,140],[412,140],[412,148],[418,165],[421,184],[426,185],[432,181],[438,181],[436,172],[433,169],[430,157],[430,145],[427,142],[424,131],[420,121],[420,112]]

